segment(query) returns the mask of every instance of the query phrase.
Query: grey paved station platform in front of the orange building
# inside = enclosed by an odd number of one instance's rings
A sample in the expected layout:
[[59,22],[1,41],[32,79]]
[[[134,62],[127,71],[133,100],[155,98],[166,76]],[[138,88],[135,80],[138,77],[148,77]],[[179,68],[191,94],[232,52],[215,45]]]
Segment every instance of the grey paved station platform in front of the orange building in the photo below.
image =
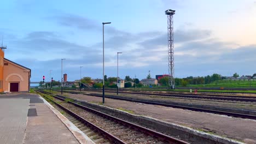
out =
[[36,94],[0,95],[0,143],[79,143]]

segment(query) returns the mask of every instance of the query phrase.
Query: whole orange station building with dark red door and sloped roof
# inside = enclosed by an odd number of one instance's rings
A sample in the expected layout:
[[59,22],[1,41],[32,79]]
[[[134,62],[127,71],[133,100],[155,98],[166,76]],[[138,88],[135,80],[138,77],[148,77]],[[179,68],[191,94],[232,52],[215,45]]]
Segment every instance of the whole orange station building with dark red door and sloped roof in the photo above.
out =
[[0,92],[30,91],[31,69],[4,58],[0,49]]

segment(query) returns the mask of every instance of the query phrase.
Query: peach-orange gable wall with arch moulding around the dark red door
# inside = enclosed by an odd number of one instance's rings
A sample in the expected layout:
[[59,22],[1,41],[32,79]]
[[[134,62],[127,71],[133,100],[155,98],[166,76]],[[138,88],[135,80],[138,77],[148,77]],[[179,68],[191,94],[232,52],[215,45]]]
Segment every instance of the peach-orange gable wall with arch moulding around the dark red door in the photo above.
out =
[[4,59],[3,77],[3,91],[10,92],[11,82],[19,83],[19,92],[29,91],[30,70]]

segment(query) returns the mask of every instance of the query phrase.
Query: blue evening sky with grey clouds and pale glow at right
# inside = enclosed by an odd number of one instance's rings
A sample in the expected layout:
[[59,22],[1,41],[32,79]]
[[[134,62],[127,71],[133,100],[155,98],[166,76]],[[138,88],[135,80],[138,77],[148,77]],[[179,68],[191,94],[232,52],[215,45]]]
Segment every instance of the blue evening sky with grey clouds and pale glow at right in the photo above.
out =
[[[176,10],[174,77],[256,73],[255,0],[1,1],[0,38],[5,58],[30,68],[31,81],[141,80],[168,74],[167,15]],[[50,76],[51,70],[51,76]]]

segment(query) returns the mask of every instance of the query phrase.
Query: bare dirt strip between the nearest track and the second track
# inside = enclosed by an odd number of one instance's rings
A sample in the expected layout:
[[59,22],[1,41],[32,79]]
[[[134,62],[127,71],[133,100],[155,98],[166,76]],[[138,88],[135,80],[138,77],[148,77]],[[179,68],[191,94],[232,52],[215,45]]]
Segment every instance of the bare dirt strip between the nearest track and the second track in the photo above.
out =
[[[102,104],[102,98],[82,94],[63,93],[64,96]],[[105,99],[105,106],[128,111],[135,115],[144,115],[162,121],[183,125],[207,133],[216,134],[245,143],[256,143],[256,121],[234,118],[212,113],[196,112],[172,107],[132,103],[123,100]]]

